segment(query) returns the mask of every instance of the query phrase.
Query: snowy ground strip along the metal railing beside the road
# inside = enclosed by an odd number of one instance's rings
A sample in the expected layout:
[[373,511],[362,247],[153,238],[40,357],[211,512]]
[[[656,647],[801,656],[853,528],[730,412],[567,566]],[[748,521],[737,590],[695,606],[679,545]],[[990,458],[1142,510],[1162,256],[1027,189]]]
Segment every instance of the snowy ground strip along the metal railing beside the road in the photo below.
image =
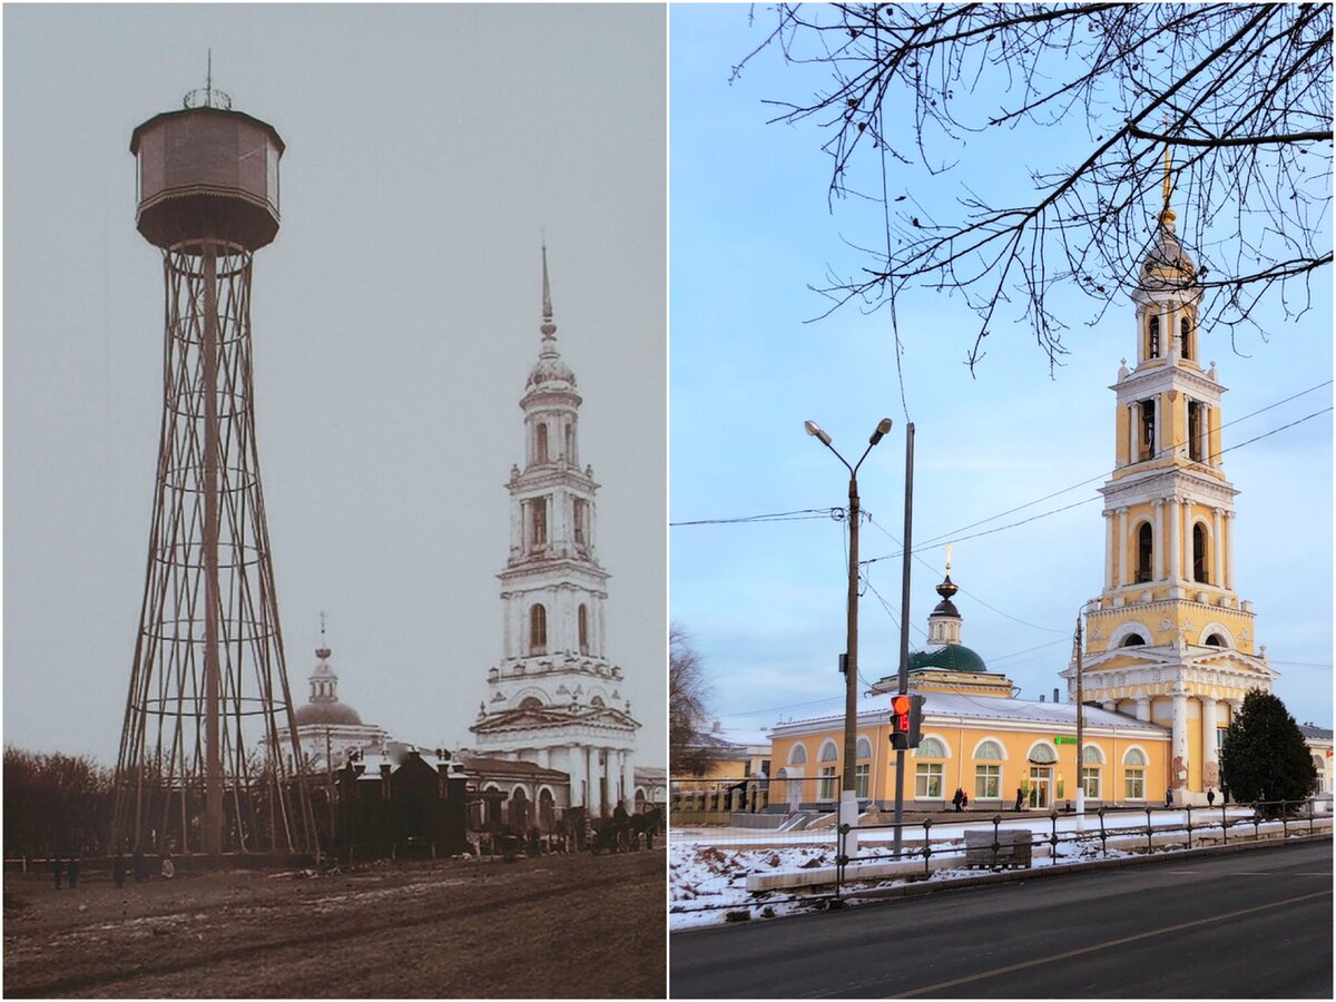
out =
[[[1205,811],[1198,810],[1193,810],[1192,812],[1194,839],[1209,834],[1202,827],[1206,822],[1205,814]],[[1212,811],[1210,822],[1218,824],[1221,812],[1218,810]],[[1228,816],[1230,822],[1236,823],[1230,831],[1234,831],[1237,827],[1241,836],[1250,836],[1253,834],[1252,824],[1240,823],[1244,819],[1252,819],[1250,810],[1230,807],[1228,808]],[[1150,820],[1157,834],[1172,835],[1173,826],[1186,824],[1186,812],[1181,810],[1156,810],[1152,811]],[[1105,830],[1109,832],[1124,830],[1120,832],[1124,836],[1132,834],[1126,830],[1140,827],[1144,831],[1145,826],[1146,815],[1144,812],[1126,812],[1105,818]],[[1263,828],[1267,830],[1272,826],[1280,831],[1281,826],[1279,822],[1264,823]],[[942,824],[933,824],[934,852],[939,852],[939,859],[946,862],[945,858],[950,856],[953,851],[961,851],[958,847],[953,848],[950,843],[963,842],[966,828],[989,830],[991,827],[991,822],[982,816],[971,818],[967,822],[962,819],[959,823],[953,819]],[[1051,834],[1053,822],[1045,815],[1034,815],[1007,819],[1001,827],[1002,830],[1029,828],[1035,832],[1035,840],[1039,842],[1041,838]],[[1071,834],[1078,831],[1098,834],[1100,819],[1093,815],[1086,815],[1083,819],[1059,816],[1057,830],[1059,836],[1063,832]],[[1292,834],[1305,834],[1307,830],[1305,822],[1291,823]],[[1214,830],[1217,836],[1218,831],[1218,828]],[[1328,827],[1327,831],[1331,831],[1331,828]],[[1182,835],[1186,839],[1186,828],[1182,830]],[[916,828],[906,827],[904,840],[907,843],[921,842],[922,838],[923,830],[921,826]],[[835,840],[836,834],[830,828],[808,832],[758,832],[755,828],[719,827],[673,830],[668,847],[669,930],[676,931],[743,919],[776,918],[819,907],[822,904],[820,899],[802,896],[800,892],[795,894],[787,890],[756,895],[748,894],[747,876],[749,874],[796,872],[816,867],[834,867],[836,856]],[[890,830],[860,831],[859,856],[892,858],[887,848],[890,840]],[[1113,859],[1130,855],[1114,848],[1110,848],[1108,854],[1102,854],[1098,842],[1086,844],[1059,842],[1055,847],[1055,855],[1047,855],[1047,846],[1043,846],[1045,854],[1035,851],[1033,859],[1035,868],[1055,863],[1094,862],[1096,859]],[[851,867],[850,875],[852,876],[855,871],[856,868]],[[978,870],[966,870],[962,864],[961,867],[947,866],[946,868],[937,870],[929,879],[935,883],[978,875]],[[918,879],[922,880],[922,875]],[[859,883],[858,887],[860,890],[895,887],[907,882],[904,878],[872,879]],[[848,886],[846,887],[848,888]]]

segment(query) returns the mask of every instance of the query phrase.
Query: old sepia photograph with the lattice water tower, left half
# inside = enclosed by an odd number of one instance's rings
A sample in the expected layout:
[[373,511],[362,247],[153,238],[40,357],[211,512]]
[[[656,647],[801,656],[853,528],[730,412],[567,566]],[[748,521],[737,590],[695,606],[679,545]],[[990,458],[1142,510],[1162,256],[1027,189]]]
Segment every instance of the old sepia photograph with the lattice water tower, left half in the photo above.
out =
[[665,990],[667,12],[4,12],[4,983]]

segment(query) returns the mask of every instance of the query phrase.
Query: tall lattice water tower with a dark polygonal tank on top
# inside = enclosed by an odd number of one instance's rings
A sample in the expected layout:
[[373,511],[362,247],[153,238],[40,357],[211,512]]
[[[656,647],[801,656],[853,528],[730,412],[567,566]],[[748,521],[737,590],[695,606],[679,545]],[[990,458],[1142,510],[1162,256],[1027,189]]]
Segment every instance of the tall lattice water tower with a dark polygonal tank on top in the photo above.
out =
[[163,253],[166,354],[112,844],[309,851],[251,379],[251,262],[278,234],[283,140],[210,86],[130,151],[136,224]]

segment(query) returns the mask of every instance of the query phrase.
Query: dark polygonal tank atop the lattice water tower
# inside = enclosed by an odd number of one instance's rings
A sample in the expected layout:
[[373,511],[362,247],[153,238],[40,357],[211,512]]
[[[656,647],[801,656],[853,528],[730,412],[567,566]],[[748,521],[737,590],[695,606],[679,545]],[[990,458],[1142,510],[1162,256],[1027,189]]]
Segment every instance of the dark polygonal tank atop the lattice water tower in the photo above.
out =
[[278,160],[283,140],[269,123],[223,108],[156,115],[135,130],[136,224],[172,247],[203,239],[258,250],[278,234]]

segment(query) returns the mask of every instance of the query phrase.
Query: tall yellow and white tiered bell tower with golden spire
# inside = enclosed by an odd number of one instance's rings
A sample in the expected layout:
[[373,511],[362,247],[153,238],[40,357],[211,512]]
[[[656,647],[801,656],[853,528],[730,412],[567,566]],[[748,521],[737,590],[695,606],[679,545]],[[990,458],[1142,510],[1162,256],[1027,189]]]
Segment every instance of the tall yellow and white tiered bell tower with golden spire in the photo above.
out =
[[[1114,468],[1104,494],[1105,576],[1086,605],[1083,699],[1172,727],[1176,803],[1220,787],[1218,743],[1275,672],[1252,603],[1233,581],[1234,496],[1220,462],[1225,387],[1202,369],[1197,269],[1174,234],[1169,154],[1164,208],[1141,266],[1136,367],[1117,394]],[[1075,665],[1062,676],[1075,697]]]

